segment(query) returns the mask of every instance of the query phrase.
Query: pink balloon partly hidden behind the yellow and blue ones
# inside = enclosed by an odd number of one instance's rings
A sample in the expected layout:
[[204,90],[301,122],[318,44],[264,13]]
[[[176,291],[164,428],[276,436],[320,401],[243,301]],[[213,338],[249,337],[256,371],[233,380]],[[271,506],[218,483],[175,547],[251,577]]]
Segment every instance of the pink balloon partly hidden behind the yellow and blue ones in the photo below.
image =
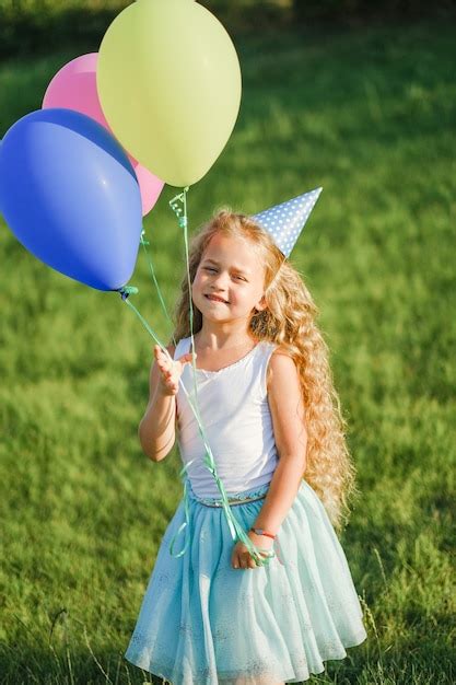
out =
[[[114,136],[103,114],[96,90],[97,60],[98,53],[90,53],[65,65],[47,86],[43,100],[43,109],[49,107],[75,109],[98,121]],[[144,216],[155,205],[165,184],[145,166],[142,166],[131,154],[128,156],[138,178],[141,190],[142,216]]]

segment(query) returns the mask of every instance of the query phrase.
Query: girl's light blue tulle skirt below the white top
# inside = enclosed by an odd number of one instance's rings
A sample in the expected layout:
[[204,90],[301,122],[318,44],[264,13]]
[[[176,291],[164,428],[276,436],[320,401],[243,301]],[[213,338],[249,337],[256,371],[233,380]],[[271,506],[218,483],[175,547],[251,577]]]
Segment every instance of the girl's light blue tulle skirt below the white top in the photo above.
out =
[[[189,487],[189,483],[188,483]],[[266,496],[268,485],[239,498]],[[202,503],[189,487],[159,549],[128,661],[173,685],[300,683],[343,659],[366,639],[362,609],[343,549],[326,510],[302,480],[278,531],[279,557],[234,569],[234,542],[223,509]],[[217,501],[210,499],[208,501]],[[264,499],[231,506],[247,531]]]

